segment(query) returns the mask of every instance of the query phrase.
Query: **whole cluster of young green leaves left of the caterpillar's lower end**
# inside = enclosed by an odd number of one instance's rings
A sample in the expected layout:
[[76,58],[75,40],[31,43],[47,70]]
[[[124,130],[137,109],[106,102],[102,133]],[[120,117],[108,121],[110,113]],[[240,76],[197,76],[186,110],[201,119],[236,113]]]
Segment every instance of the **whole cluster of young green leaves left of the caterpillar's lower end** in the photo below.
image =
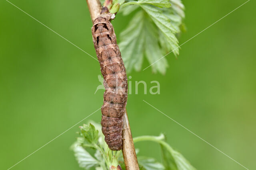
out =
[[[80,137],[71,147],[75,152],[78,163],[85,169],[93,167],[93,169],[97,170],[108,170],[110,166],[118,166],[122,151],[110,150],[104,141],[101,125],[98,123],[93,124],[95,126],[89,123],[80,127]],[[87,149],[90,150],[90,154]]]

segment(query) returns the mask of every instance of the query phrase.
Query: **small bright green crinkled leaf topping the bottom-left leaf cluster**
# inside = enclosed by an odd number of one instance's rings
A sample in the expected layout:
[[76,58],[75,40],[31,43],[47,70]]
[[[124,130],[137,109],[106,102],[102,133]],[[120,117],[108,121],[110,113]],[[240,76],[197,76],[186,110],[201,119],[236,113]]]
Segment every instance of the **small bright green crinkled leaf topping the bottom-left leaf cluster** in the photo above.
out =
[[81,129],[81,135],[84,136],[84,139],[89,144],[97,144],[98,138],[99,138],[99,131],[95,129],[94,125],[91,123],[89,125],[84,124],[80,127]]

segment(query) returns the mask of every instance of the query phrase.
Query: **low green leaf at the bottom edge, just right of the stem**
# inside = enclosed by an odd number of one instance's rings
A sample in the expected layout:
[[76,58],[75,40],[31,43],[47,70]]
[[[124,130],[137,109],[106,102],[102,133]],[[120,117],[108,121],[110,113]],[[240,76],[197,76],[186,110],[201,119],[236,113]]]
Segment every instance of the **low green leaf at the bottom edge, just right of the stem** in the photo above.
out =
[[154,158],[138,156],[138,163],[140,170],[164,170],[164,166],[161,163],[156,162]]

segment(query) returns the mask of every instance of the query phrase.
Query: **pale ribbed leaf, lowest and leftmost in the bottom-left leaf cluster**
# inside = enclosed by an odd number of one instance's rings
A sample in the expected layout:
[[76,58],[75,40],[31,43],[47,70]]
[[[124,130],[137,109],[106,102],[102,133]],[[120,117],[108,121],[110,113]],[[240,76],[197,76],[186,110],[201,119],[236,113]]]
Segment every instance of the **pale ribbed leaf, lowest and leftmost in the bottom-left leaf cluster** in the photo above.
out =
[[99,166],[98,161],[92,157],[83,147],[78,143],[74,143],[72,146],[76,160],[81,168],[90,169],[92,167]]

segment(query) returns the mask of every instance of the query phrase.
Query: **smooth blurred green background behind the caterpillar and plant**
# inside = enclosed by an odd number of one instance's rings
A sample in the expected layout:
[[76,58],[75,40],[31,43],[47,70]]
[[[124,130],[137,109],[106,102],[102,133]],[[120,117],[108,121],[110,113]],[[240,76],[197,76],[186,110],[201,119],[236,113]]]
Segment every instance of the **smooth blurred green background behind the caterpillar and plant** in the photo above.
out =
[[[11,0],[78,47],[96,57],[85,0]],[[186,33],[180,44],[222,18],[244,0],[184,0]],[[198,170],[242,170],[142,100],[152,104],[248,169],[256,169],[256,2],[251,0],[191,41],[178,59],[166,56],[166,75],[132,72],[128,116],[134,137],[165,133],[168,143]],[[116,35],[132,17],[116,17]],[[148,66],[144,61],[143,68]],[[97,61],[5,0],[0,2],[0,169],[8,169],[102,106],[94,94]],[[160,94],[135,94],[135,81],[160,82]],[[97,111],[12,169],[70,170],[78,164],[70,145],[78,126],[100,122]],[[154,143],[138,143],[140,155],[160,160]]]

